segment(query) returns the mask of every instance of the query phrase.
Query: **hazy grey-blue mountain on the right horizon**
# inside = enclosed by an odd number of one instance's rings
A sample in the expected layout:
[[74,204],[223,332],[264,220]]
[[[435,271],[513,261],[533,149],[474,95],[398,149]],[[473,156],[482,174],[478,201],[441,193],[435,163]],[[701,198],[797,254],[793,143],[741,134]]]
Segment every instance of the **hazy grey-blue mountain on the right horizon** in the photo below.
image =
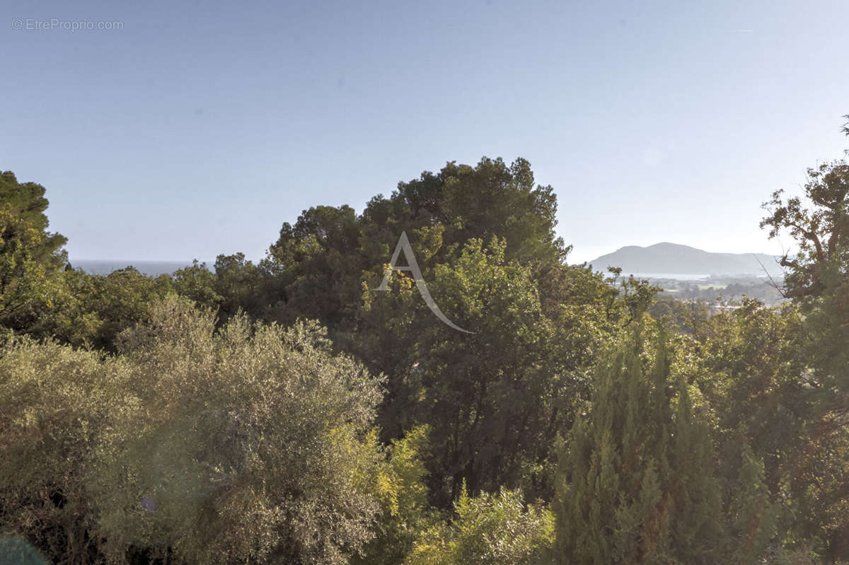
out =
[[[655,243],[649,247],[628,245],[589,261],[597,270],[620,266],[622,274],[661,275],[782,275],[779,257],[758,253],[710,253],[678,243]],[[670,276],[669,278],[674,278]]]

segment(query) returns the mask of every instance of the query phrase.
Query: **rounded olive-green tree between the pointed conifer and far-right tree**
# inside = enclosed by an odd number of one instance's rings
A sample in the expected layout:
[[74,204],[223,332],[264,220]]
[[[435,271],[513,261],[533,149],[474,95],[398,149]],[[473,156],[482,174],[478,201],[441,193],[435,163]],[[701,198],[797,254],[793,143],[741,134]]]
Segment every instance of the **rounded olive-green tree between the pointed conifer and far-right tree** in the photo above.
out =
[[686,342],[695,378],[714,411],[722,461],[739,461],[742,431],[759,456],[771,454],[771,484],[778,483],[772,470],[778,469],[779,454],[801,445],[811,410],[810,388],[794,348],[800,329],[796,307],[771,309],[745,299],[733,311],[698,322]]

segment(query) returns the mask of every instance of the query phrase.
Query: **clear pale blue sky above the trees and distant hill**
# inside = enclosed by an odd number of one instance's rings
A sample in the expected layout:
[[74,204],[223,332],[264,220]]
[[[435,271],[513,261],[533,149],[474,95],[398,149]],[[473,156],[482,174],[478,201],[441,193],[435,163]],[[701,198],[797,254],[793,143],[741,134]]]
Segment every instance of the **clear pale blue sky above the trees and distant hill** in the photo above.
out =
[[0,169],[47,188],[72,261],[258,260],[312,205],[361,211],[484,155],[554,187],[573,262],[779,254],[760,205],[849,148],[843,0],[0,12]]

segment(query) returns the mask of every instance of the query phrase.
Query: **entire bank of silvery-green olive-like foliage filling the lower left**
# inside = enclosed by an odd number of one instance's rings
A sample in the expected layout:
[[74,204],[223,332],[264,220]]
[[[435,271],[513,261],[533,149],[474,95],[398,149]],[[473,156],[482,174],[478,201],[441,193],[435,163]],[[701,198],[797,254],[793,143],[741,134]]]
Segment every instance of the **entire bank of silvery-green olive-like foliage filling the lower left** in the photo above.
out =
[[380,385],[317,325],[237,316],[216,332],[211,312],[169,297],[119,346],[3,351],[3,531],[69,563],[139,548],[342,563],[371,539]]

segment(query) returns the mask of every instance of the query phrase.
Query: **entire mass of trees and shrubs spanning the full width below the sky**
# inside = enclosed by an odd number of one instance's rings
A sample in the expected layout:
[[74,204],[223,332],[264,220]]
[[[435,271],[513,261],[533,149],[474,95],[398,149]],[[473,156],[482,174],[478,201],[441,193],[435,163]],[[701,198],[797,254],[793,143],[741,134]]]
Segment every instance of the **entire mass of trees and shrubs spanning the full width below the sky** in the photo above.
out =
[[[47,205],[0,177],[0,557],[849,563],[845,161],[765,204],[790,300],[718,313],[570,265],[523,159],[172,276],[71,268]],[[402,232],[474,333],[374,292]]]

